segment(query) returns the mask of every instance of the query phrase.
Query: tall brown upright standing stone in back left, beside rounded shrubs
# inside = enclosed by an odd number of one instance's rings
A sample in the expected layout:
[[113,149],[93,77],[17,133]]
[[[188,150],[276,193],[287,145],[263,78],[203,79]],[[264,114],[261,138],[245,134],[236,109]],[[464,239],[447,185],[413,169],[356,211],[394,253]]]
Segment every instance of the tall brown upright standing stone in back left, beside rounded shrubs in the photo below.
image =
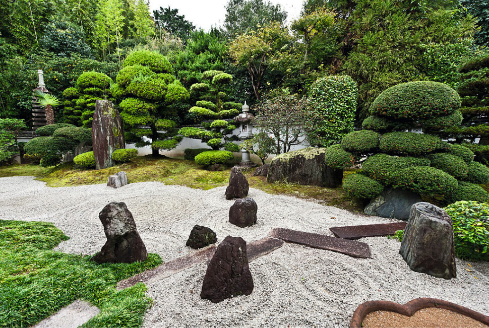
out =
[[92,122],[93,155],[97,170],[112,166],[114,150],[126,147],[119,112],[108,100],[97,100]]

